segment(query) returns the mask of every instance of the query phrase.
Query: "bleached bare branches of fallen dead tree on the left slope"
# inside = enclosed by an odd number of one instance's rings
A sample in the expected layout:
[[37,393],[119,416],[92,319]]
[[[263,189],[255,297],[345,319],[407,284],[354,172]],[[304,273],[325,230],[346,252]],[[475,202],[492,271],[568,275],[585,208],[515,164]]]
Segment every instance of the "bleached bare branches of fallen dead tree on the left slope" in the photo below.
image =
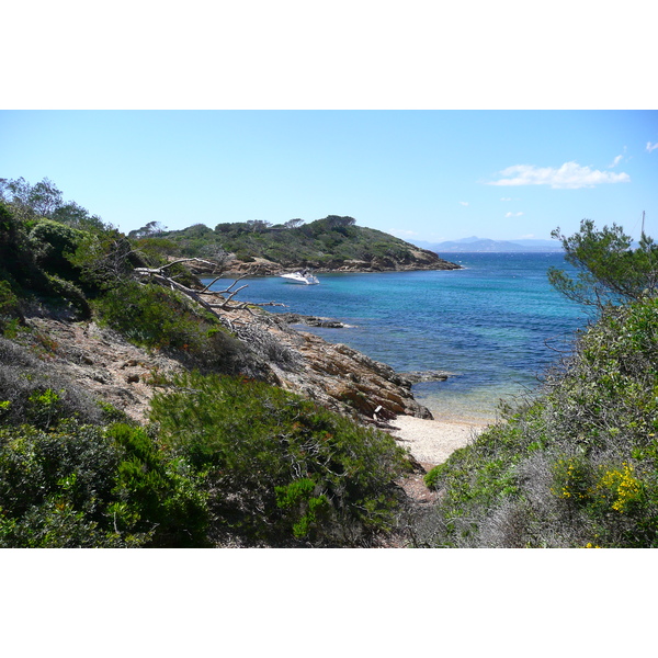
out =
[[[185,262],[197,262],[197,263],[203,263],[205,265],[211,265],[213,268],[216,268],[216,263],[205,261],[205,260],[202,260],[198,258],[182,258],[182,259],[179,259],[175,261],[171,261],[170,263],[167,263],[166,265],[161,265],[159,268],[135,268],[134,272],[137,275],[137,277],[140,280],[148,280],[149,282],[157,283],[164,287],[169,287],[171,290],[175,290],[175,291],[183,293],[183,295],[186,295],[188,297],[190,297],[191,299],[193,299],[194,302],[196,302],[197,304],[203,306],[206,310],[209,310],[213,314],[216,314],[216,309],[228,310],[228,311],[230,311],[230,310],[247,310],[247,311],[253,314],[253,311],[251,310],[251,307],[253,307],[253,306],[284,306],[283,304],[280,304],[277,302],[264,302],[264,303],[234,302],[234,297],[240,291],[243,291],[246,287],[248,287],[248,285],[245,284],[236,290],[232,290],[232,288],[242,279],[246,279],[247,276],[253,274],[254,272],[247,272],[246,274],[242,274],[241,276],[236,279],[227,288],[225,288],[223,291],[209,292],[209,288],[213,286],[213,284],[215,284],[219,279],[222,279],[222,274],[219,274],[218,276],[215,276],[215,279],[213,281],[211,281],[211,283],[208,283],[208,285],[206,285],[201,291],[195,291],[194,288],[188,287],[186,285],[183,285],[182,283],[175,281],[175,279],[173,279],[173,276],[170,276],[167,272],[167,270],[169,270],[173,265],[178,265],[179,263],[185,263]],[[220,299],[220,302],[206,300],[203,298],[204,295],[208,296],[211,298],[214,298],[214,299],[218,298],[218,299]]]

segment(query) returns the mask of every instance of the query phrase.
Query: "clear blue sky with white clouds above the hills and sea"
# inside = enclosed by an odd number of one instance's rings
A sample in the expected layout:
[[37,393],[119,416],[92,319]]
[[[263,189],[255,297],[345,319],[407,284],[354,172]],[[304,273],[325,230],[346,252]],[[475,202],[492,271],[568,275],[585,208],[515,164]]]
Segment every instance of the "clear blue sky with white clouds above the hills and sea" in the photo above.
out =
[[[0,177],[124,231],[350,215],[409,240],[658,228],[656,111],[1,111]],[[658,235],[658,230],[654,235]]]

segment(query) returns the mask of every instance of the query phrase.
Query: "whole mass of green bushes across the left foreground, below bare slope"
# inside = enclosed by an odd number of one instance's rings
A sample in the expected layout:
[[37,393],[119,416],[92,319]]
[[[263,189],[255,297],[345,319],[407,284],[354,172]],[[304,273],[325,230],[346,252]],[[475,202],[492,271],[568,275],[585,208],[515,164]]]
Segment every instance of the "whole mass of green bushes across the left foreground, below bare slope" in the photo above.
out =
[[0,354],[0,546],[360,546],[394,523],[405,453],[280,388],[189,373],[141,428]]

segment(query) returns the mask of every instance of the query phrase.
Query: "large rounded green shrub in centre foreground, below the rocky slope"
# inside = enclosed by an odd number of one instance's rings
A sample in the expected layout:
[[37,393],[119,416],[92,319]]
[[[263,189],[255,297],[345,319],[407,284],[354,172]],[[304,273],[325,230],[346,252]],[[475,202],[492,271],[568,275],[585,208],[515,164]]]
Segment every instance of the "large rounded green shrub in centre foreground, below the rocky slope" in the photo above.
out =
[[364,545],[393,522],[408,465],[387,434],[263,383],[182,375],[158,394],[162,443],[207,473],[217,532],[250,544]]

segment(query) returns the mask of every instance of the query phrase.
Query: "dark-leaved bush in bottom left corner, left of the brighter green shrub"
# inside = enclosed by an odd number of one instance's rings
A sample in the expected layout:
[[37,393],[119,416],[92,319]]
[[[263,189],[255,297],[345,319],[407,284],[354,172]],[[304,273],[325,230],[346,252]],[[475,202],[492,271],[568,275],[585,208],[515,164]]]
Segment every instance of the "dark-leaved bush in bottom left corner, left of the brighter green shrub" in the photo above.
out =
[[107,515],[118,454],[93,427],[0,430],[0,546],[139,545]]

